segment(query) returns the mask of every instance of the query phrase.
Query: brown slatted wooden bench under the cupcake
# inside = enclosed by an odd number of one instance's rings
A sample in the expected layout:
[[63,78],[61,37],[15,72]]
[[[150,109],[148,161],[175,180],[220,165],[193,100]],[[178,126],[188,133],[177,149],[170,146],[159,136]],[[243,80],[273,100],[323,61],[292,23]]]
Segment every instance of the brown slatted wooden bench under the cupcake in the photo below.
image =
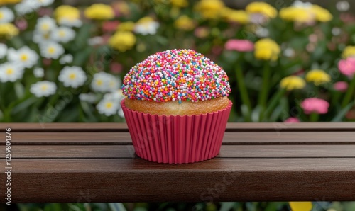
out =
[[355,123],[229,123],[217,158],[178,165],[136,157],[125,123],[0,125],[11,203],[355,200]]

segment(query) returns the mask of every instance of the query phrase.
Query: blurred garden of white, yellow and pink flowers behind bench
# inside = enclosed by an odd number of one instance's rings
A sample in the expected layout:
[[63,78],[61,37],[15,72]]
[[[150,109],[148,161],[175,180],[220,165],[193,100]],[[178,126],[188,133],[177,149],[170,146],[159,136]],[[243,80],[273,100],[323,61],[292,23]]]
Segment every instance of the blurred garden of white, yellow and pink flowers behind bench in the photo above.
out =
[[[0,122],[124,122],[119,105],[124,75],[149,55],[174,48],[201,52],[226,71],[234,102],[231,122],[354,121],[353,4],[0,0]],[[355,210],[350,202],[311,206]],[[290,210],[291,204],[72,203],[11,209],[271,211]]]

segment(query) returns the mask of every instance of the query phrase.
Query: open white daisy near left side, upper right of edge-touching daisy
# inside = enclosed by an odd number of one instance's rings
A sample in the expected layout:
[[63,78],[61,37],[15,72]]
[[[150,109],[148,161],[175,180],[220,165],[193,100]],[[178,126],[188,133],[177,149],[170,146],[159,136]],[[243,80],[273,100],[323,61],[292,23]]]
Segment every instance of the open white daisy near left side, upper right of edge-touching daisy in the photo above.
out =
[[24,46],[18,50],[10,48],[7,54],[9,62],[21,64],[23,67],[31,68],[38,62],[38,55],[34,50]]

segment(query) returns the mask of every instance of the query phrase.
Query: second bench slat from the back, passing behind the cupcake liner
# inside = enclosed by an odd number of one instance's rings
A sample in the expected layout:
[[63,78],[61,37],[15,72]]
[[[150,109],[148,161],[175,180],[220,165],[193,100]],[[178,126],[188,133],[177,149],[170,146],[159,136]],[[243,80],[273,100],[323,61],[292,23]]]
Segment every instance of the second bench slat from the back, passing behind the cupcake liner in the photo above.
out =
[[[129,132],[13,132],[12,144],[131,144]],[[225,132],[224,144],[355,144],[355,132]],[[5,144],[1,142],[0,144]]]

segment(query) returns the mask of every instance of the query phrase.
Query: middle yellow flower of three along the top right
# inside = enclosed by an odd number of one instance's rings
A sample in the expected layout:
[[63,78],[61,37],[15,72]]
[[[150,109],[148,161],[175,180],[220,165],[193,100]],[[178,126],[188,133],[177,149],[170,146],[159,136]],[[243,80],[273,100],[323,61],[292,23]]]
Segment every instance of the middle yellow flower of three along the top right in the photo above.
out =
[[305,8],[290,6],[280,10],[280,18],[283,18],[286,21],[297,21],[305,23],[312,21],[313,15]]

